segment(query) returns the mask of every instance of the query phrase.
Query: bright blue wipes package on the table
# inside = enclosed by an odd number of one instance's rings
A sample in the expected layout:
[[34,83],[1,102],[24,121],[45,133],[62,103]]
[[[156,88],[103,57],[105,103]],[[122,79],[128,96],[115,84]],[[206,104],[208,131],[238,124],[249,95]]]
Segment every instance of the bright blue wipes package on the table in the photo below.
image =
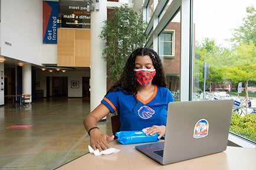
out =
[[117,140],[123,144],[138,144],[144,142],[157,142],[158,135],[145,135],[143,131],[120,131],[116,132]]

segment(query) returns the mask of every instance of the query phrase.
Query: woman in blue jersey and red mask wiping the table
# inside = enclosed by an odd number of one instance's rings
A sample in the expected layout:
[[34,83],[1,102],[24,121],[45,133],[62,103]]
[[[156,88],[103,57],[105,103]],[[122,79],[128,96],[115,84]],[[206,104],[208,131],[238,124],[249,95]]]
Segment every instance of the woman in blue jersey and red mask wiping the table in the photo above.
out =
[[109,148],[107,141],[114,136],[103,134],[97,128],[107,114],[120,117],[120,131],[146,129],[146,135],[165,135],[169,102],[173,96],[166,88],[166,78],[159,55],[153,49],[136,49],[127,59],[124,71],[107,92],[101,104],[84,119],[84,127],[90,135],[92,148],[100,151]]

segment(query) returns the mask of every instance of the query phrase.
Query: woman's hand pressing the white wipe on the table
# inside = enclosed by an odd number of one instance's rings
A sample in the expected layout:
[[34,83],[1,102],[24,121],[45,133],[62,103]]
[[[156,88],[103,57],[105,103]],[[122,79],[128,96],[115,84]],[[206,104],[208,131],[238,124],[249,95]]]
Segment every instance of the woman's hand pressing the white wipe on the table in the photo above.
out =
[[99,149],[101,152],[107,148],[110,148],[108,142],[113,141],[113,139],[114,135],[108,136],[103,134],[99,129],[93,129],[90,131],[90,143],[94,151]]

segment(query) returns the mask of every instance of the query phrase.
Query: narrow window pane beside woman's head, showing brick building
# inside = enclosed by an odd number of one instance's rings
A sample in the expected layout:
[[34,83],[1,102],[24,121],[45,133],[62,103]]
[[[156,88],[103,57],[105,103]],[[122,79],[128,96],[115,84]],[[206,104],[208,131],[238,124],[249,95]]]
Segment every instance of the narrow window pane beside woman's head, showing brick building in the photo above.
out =
[[175,101],[180,101],[180,12],[160,32],[158,53],[163,60],[168,88]]

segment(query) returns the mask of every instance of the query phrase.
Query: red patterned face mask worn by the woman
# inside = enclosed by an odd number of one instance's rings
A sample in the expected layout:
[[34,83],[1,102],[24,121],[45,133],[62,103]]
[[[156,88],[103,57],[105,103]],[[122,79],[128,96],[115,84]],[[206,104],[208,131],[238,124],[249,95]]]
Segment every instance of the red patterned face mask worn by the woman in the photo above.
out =
[[155,69],[134,69],[134,74],[139,85],[147,86],[156,75]]

